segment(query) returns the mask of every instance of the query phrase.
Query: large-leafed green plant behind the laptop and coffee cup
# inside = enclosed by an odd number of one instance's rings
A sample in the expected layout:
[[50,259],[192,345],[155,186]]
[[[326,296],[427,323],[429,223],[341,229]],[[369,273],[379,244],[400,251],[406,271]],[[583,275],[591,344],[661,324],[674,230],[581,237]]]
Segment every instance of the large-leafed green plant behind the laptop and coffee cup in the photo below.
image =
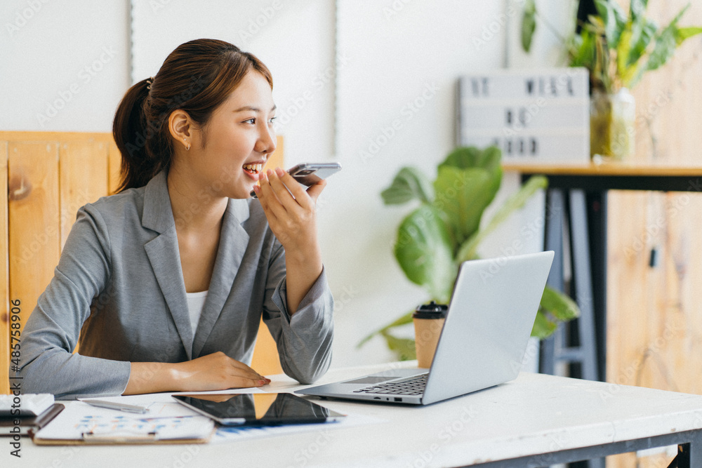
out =
[[[448,304],[458,265],[478,258],[481,241],[539,189],[545,189],[548,182],[544,177],[530,178],[505,200],[489,222],[482,223],[484,210],[494,200],[502,182],[501,156],[498,147],[482,150],[459,147],[439,163],[433,183],[422,171],[404,167],[390,187],[383,190],[381,195],[386,205],[410,202],[416,205],[397,229],[395,258],[407,279],[425,288],[427,302]],[[380,335],[398,359],[414,359],[414,340],[392,333],[394,328],[411,323],[412,312],[374,331],[359,347]],[[559,321],[574,319],[579,314],[570,297],[547,286],[531,335],[548,337]]]

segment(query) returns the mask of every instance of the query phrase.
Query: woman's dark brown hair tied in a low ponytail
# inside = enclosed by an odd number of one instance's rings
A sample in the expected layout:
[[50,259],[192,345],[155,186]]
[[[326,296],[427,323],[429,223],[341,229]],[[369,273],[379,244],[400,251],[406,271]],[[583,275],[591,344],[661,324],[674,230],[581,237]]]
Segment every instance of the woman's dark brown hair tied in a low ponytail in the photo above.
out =
[[129,88],[112,123],[112,135],[122,155],[117,192],[143,187],[171,165],[171,112],[183,109],[204,128],[212,112],[251,69],[273,88],[270,71],[255,55],[225,41],[195,39],[171,52],[153,79]]

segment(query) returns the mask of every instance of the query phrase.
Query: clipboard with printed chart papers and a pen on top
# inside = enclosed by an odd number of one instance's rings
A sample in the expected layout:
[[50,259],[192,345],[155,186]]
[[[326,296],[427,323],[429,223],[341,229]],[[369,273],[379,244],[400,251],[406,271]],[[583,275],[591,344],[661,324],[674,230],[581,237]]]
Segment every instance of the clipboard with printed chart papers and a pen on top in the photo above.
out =
[[32,441],[46,446],[207,443],[215,432],[213,420],[204,416],[150,417],[76,402],[34,434]]

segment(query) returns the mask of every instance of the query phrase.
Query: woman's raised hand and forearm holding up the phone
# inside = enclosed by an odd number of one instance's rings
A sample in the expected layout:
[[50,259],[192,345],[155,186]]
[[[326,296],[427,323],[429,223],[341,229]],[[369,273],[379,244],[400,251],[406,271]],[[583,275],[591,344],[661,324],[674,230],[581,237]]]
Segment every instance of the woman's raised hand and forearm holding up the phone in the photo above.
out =
[[256,196],[268,225],[285,249],[286,299],[293,314],[322,274],[322,253],[317,241],[317,198],[326,186],[321,180],[308,189],[281,168],[259,178]]

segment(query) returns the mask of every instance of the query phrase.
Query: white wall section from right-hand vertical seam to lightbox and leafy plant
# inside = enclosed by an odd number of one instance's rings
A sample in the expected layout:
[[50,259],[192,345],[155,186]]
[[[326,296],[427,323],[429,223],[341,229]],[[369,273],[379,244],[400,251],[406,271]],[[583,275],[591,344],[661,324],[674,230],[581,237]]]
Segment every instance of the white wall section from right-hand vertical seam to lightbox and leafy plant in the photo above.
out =
[[381,338],[358,354],[348,350],[428,299],[392,254],[411,207],[383,206],[380,192],[402,166],[433,180],[455,142],[456,77],[503,64],[504,34],[479,46],[472,41],[502,11],[501,1],[340,1],[338,46],[347,65],[339,72],[337,158],[344,170],[329,184],[329,208],[321,213],[336,232],[326,238],[325,255],[341,293],[340,363],[390,359]]

